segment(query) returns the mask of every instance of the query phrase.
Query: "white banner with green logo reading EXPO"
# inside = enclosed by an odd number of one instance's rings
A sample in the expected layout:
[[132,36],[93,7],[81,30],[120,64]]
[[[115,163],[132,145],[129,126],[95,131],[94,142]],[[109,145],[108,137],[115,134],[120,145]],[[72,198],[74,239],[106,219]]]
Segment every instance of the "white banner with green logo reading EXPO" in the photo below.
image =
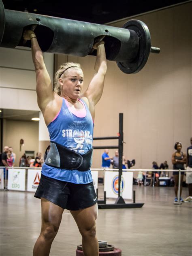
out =
[[9,169],[8,170],[8,189],[25,191],[26,186],[26,170],[25,169]]

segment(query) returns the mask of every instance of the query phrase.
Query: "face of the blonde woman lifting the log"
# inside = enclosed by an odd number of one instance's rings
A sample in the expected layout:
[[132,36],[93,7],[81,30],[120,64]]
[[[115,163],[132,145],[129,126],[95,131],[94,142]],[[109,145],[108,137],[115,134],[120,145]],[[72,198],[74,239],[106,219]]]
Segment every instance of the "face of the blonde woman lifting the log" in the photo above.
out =
[[70,68],[67,71],[65,76],[60,78],[62,96],[76,100],[83,90],[83,71],[80,68]]

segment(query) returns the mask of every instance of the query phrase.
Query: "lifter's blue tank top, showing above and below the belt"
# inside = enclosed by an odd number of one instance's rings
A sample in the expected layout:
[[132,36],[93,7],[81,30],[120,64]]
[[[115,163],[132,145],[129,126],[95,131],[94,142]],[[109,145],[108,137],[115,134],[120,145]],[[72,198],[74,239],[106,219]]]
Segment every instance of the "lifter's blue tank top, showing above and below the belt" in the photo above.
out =
[[[63,98],[62,107],[58,116],[47,126],[50,141],[56,142],[68,149],[83,155],[92,149],[93,119],[86,103],[81,100],[86,109],[85,117],[77,117],[67,107]],[[91,170],[64,170],[43,164],[42,174],[61,181],[77,184],[92,182]]]

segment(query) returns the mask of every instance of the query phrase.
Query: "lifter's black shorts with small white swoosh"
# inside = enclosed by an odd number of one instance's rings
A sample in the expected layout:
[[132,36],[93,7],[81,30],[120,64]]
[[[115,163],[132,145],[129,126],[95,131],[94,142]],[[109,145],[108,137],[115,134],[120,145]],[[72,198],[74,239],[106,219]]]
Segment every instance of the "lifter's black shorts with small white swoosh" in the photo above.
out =
[[75,184],[48,178],[44,175],[41,175],[34,197],[43,197],[55,205],[71,211],[91,207],[98,201],[93,182]]

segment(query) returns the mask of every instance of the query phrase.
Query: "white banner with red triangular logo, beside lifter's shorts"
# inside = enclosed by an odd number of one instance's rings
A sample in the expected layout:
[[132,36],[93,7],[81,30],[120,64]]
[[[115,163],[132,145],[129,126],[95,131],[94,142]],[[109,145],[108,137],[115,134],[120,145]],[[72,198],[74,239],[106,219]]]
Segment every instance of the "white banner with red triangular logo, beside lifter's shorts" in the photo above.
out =
[[36,191],[41,178],[41,170],[28,169],[27,191]]

